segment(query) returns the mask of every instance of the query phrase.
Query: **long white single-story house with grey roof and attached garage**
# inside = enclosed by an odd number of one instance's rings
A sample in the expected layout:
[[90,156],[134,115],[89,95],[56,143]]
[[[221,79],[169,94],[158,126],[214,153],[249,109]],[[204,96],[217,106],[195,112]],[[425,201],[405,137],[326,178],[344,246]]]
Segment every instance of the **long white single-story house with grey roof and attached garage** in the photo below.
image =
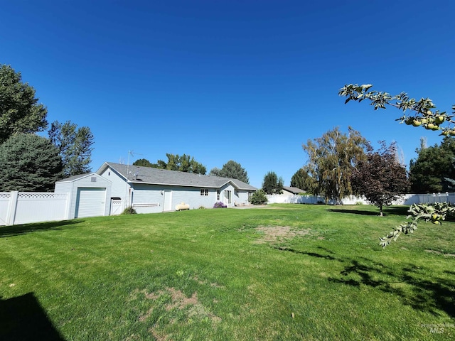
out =
[[237,179],[164,169],[104,163],[95,173],[55,183],[55,193],[69,192],[70,217],[118,215],[132,206],[138,213],[246,205],[257,188]]

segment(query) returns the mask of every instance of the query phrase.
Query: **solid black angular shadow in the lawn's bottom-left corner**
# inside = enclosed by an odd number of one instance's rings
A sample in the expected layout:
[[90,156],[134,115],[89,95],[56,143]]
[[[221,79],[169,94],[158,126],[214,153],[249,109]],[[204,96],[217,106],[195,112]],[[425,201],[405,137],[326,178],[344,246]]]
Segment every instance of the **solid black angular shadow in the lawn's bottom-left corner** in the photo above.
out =
[[2,300],[0,297],[0,340],[64,341],[33,295]]

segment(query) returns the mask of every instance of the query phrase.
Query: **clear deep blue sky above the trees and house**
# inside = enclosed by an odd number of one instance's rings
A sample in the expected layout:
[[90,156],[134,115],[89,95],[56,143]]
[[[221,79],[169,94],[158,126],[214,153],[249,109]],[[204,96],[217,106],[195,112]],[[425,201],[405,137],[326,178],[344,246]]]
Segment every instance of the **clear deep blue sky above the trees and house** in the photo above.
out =
[[193,156],[229,160],[256,187],[289,185],[301,148],[348,126],[405,161],[421,136],[400,112],[344,104],[338,90],[375,90],[455,104],[454,1],[5,1],[0,63],[21,72],[48,121],[90,126],[103,162]]

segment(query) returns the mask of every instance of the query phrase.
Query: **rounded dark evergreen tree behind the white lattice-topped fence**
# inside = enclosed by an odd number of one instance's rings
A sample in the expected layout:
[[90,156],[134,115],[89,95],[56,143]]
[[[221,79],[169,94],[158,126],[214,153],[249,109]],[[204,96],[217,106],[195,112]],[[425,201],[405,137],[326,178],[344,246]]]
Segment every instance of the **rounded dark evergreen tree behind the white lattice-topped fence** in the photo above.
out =
[[16,134],[0,145],[0,192],[50,192],[62,178],[62,159],[48,139]]

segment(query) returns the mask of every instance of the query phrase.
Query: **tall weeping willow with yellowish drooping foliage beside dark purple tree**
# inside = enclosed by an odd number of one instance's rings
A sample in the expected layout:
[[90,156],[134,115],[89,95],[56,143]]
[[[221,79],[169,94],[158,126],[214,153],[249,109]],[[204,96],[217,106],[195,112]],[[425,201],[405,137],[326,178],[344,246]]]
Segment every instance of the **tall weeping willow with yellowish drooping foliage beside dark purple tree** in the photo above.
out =
[[353,194],[350,175],[358,161],[365,159],[368,141],[351,127],[344,134],[338,127],[323,136],[308,140],[302,147],[309,160],[304,170],[314,178],[311,193],[322,195],[326,202],[340,202]]

